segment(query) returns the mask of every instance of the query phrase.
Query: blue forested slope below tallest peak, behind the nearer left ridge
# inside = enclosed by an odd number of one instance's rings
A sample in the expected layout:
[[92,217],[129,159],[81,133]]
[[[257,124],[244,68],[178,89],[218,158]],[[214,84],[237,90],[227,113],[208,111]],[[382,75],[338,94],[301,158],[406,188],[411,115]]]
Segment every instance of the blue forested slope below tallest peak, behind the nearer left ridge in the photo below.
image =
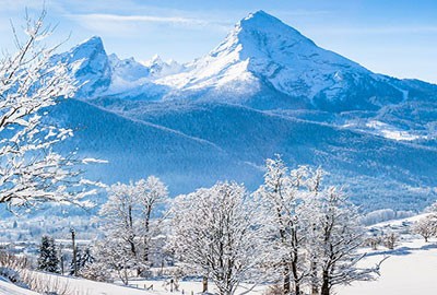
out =
[[228,163],[228,170],[217,172],[220,179],[245,181],[251,190],[262,181],[263,161],[279,153],[293,167],[322,166],[331,174],[327,180],[349,186],[352,199],[366,211],[418,209],[437,197],[436,149],[228,104],[131,102],[125,115],[220,146],[229,158],[255,168],[249,179]]

